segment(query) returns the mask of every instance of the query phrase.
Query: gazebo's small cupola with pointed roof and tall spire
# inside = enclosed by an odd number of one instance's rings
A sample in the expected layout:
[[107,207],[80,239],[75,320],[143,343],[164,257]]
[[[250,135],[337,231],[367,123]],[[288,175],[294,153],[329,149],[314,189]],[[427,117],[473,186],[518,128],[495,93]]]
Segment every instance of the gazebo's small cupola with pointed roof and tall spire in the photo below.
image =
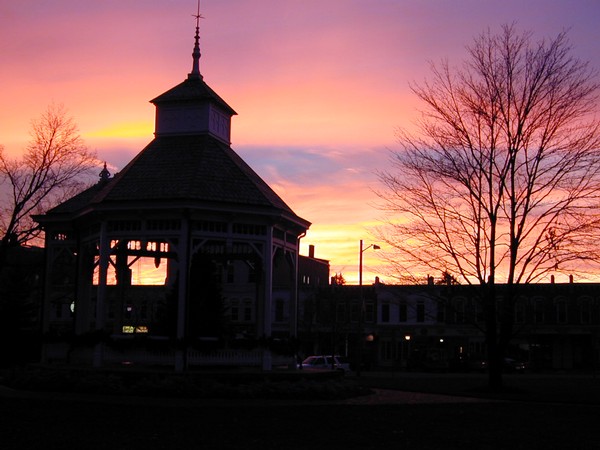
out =
[[199,19],[197,15],[192,71],[183,83],[151,100],[156,105],[154,134],[208,133],[230,144],[231,116],[236,112],[204,82],[200,73]]

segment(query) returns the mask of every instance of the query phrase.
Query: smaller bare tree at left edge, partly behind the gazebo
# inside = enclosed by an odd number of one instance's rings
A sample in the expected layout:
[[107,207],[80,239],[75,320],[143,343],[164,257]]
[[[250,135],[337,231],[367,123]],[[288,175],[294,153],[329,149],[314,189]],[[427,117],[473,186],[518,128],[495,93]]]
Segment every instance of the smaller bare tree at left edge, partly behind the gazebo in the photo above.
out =
[[6,250],[36,238],[32,214],[45,213],[81,189],[97,164],[63,106],[50,105],[32,122],[31,141],[21,158],[0,147],[0,267]]

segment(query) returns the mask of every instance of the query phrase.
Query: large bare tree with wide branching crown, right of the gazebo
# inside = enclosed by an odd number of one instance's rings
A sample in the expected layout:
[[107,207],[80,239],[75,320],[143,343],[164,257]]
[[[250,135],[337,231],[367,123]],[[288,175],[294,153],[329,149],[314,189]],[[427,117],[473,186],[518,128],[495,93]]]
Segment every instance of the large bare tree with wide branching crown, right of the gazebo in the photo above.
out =
[[[565,32],[534,42],[506,25],[467,52],[461,67],[432,65],[432,80],[412,87],[425,109],[379,173],[389,220],[378,234],[403,274],[481,286],[498,388],[516,287],[597,268],[599,84]],[[496,283],[508,289],[501,304]]]

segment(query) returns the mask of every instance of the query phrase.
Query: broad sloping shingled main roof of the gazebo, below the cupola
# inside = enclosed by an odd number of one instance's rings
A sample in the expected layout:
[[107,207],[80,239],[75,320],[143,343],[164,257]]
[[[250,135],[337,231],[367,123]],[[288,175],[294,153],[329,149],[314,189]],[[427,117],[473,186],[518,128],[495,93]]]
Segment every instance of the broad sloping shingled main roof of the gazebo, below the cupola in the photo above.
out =
[[101,180],[48,215],[152,201],[246,205],[299,219],[237,153],[207,134],[156,137],[114,178]]

